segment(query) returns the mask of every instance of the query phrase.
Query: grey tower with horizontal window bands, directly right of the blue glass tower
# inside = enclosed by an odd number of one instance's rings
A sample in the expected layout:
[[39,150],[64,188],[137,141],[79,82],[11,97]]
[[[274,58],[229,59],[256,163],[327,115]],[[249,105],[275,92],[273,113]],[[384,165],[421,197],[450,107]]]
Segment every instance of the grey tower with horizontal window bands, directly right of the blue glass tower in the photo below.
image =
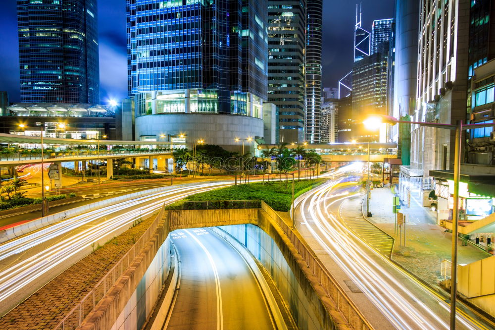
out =
[[279,108],[280,142],[304,141],[306,1],[268,1],[268,102]]

